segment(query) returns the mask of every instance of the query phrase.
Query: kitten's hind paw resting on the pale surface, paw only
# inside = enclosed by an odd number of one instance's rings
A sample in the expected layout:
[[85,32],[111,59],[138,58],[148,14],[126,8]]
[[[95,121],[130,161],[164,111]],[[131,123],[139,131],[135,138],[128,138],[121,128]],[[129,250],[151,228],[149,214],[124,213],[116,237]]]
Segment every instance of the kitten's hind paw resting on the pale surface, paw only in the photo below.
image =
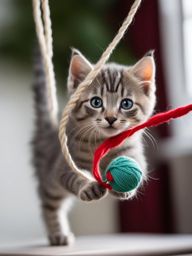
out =
[[75,237],[71,233],[69,235],[64,235],[62,233],[56,233],[49,235],[49,242],[52,246],[59,246],[59,245],[70,245],[74,242]]

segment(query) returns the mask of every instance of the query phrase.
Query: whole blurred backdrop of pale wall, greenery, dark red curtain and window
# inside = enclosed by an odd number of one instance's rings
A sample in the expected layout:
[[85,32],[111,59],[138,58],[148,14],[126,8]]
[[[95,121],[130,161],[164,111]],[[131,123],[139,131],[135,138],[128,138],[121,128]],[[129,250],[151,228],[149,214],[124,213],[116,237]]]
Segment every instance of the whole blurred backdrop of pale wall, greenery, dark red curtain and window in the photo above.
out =
[[[98,60],[132,0],[50,0],[54,65],[61,109],[66,101],[70,47]],[[131,65],[155,49],[156,112],[192,100],[192,1],[143,0],[111,60]],[[0,0],[0,245],[45,237],[31,165],[34,130],[31,84],[35,31],[31,1]],[[77,202],[76,235],[116,232],[192,233],[192,117],[151,130],[150,179],[128,202]],[[153,139],[154,140],[154,139]]]

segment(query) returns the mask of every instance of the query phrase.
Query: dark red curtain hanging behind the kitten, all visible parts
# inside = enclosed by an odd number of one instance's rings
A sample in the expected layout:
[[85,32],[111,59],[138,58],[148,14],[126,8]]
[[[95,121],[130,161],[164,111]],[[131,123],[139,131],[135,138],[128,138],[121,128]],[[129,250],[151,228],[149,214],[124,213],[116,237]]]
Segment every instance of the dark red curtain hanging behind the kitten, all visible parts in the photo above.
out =
[[[114,23],[118,27],[133,1],[118,1],[115,10]],[[144,0],[134,22],[130,26],[122,43],[127,43],[139,59],[150,49],[155,50],[157,66],[157,106],[156,111],[167,110],[166,85],[163,73],[163,63],[160,43],[158,17],[158,1]],[[156,129],[160,138],[169,136],[167,125]],[[174,220],[170,193],[169,166],[161,163],[155,166],[149,180],[138,194],[138,198],[119,203],[119,220],[121,232],[174,232]]]

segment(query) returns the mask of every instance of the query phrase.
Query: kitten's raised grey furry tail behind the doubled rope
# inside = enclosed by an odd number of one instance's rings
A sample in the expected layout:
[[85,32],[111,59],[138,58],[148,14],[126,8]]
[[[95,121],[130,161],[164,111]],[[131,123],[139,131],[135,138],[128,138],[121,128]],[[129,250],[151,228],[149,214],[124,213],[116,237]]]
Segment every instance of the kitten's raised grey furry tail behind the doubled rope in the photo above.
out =
[[36,128],[39,128],[43,132],[47,128],[58,126],[57,113],[55,114],[55,121],[50,111],[50,97],[48,97],[49,92],[46,84],[44,65],[39,49],[35,49],[34,53],[33,92]]

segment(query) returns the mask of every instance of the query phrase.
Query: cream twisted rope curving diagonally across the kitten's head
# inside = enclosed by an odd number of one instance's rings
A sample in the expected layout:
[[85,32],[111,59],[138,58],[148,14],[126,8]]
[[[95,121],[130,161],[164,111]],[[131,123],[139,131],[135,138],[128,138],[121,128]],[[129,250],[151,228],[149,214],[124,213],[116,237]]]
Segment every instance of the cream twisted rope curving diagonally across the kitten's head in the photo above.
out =
[[135,16],[140,4],[141,4],[141,1],[142,0],[135,0],[134,1],[133,5],[132,5],[126,19],[124,20],[122,26],[120,27],[118,33],[116,34],[116,36],[114,37],[112,42],[109,44],[107,49],[103,52],[101,58],[99,59],[99,61],[94,66],[93,70],[90,71],[90,73],[87,75],[85,80],[78,86],[77,90],[71,96],[71,98],[68,101],[68,104],[64,108],[62,118],[61,118],[61,121],[60,121],[60,126],[59,126],[59,139],[60,139],[60,143],[61,143],[61,149],[62,149],[63,155],[64,155],[67,163],[69,164],[70,168],[73,171],[78,172],[82,176],[85,176],[85,174],[80,169],[78,169],[78,167],[76,166],[75,162],[73,161],[73,159],[71,157],[71,154],[69,152],[69,149],[67,147],[68,138],[67,138],[67,135],[66,135],[66,126],[67,126],[67,123],[68,123],[68,120],[69,120],[70,113],[74,109],[74,107],[76,106],[76,103],[79,100],[81,94],[87,89],[88,86],[90,86],[90,84],[93,82],[93,80],[99,74],[99,72],[103,68],[103,65],[107,62],[107,60],[109,59],[113,50],[115,49],[117,44],[120,42],[120,40],[124,36],[127,28],[129,27],[129,25],[133,21],[133,18]]

